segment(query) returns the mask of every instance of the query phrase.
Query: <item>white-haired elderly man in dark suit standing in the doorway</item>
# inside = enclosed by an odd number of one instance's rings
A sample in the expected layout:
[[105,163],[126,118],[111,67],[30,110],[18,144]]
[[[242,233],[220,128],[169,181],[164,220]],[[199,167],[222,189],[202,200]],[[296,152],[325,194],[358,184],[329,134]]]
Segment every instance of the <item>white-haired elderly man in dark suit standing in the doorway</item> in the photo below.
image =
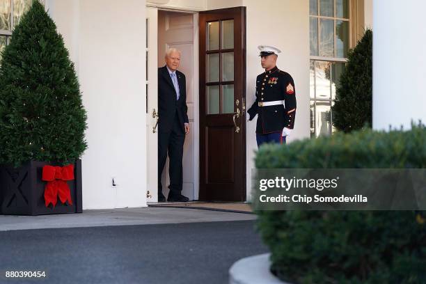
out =
[[162,192],[161,173],[168,154],[171,182],[167,201],[187,202],[189,198],[182,195],[183,145],[185,134],[189,134],[187,86],[185,75],[178,71],[180,51],[168,49],[165,59],[166,65],[158,68],[158,201],[166,201]]

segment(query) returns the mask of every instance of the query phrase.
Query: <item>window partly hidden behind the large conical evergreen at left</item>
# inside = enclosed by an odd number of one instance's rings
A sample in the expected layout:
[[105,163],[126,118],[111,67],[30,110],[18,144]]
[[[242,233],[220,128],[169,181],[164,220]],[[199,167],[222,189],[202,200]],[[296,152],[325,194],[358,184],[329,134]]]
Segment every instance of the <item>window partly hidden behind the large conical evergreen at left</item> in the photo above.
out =
[[[0,0],[0,58],[1,52],[10,42],[13,28],[34,0]],[[43,1],[40,1],[43,3]]]

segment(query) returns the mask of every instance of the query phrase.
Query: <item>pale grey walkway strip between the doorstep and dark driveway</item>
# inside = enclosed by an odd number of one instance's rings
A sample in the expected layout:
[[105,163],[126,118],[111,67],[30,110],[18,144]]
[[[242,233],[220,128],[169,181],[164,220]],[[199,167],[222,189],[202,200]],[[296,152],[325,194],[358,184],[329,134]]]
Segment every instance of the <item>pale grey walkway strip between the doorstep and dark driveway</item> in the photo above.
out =
[[81,214],[0,215],[0,231],[253,220],[253,214],[168,207],[83,210]]

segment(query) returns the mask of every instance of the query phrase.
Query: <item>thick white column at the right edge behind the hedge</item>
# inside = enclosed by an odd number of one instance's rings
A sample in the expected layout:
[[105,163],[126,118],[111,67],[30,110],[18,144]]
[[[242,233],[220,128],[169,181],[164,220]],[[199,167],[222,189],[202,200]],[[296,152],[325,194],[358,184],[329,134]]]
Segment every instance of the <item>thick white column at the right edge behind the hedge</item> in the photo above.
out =
[[374,0],[374,129],[426,123],[425,10],[424,0]]

